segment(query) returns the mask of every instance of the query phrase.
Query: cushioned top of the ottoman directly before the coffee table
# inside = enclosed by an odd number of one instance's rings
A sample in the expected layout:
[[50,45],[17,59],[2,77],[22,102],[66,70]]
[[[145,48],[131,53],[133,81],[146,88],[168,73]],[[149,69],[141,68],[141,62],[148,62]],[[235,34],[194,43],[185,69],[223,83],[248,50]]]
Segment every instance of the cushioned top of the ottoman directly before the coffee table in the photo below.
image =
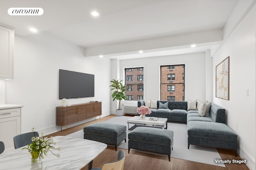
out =
[[128,133],[128,139],[132,141],[171,146],[173,141],[173,131],[154,127],[136,127],[133,131]]

